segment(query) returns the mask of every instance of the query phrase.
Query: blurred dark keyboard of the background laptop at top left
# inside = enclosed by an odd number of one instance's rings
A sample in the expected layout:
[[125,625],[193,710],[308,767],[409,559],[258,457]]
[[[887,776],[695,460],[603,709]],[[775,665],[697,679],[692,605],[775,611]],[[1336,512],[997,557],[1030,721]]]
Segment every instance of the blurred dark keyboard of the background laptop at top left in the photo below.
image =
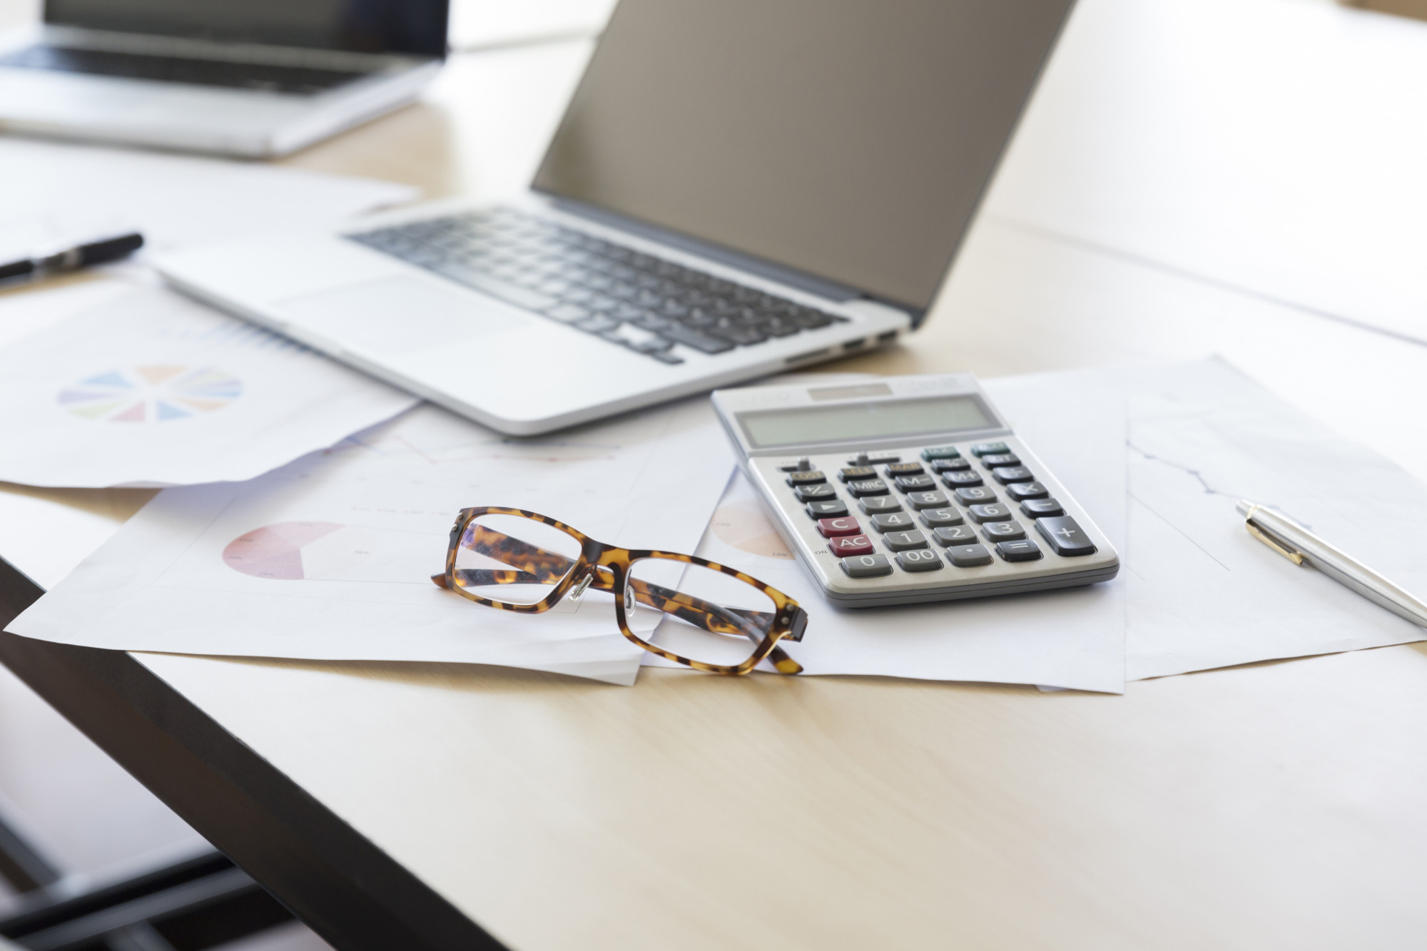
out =
[[367,73],[310,69],[304,66],[234,63],[230,60],[200,60],[184,56],[148,56],[146,53],[117,53],[114,50],[87,50],[66,46],[31,46],[0,57],[0,66],[300,94],[323,93],[342,83],[367,76]]

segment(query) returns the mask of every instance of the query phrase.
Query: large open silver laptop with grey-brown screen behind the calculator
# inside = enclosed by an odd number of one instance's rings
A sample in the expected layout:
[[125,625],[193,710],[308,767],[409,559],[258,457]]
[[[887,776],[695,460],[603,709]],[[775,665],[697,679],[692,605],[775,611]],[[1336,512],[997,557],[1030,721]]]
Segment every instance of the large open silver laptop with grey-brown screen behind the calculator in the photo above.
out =
[[161,257],[529,436],[893,344],[1073,0],[624,0],[529,190]]

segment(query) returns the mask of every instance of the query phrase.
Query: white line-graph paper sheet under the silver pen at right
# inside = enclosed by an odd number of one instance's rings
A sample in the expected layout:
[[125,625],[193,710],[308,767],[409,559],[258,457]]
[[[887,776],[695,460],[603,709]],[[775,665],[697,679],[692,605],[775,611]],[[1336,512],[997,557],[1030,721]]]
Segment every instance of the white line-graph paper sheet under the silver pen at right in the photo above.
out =
[[1427,487],[1216,360],[1120,374],[1130,401],[1129,680],[1424,640],[1244,531],[1277,508],[1418,597]]

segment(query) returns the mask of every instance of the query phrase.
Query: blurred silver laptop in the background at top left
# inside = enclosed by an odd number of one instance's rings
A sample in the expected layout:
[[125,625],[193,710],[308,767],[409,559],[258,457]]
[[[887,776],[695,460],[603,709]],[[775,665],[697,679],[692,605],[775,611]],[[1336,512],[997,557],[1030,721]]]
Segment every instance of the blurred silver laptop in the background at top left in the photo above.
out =
[[44,0],[0,36],[0,130],[284,156],[435,76],[448,0]]

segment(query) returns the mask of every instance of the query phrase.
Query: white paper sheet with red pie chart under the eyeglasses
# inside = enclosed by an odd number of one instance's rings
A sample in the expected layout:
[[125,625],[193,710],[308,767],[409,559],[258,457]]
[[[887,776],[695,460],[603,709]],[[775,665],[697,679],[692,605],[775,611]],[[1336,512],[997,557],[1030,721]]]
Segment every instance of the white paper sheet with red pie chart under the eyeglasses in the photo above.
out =
[[[451,520],[467,505],[514,505],[601,541],[688,551],[732,464],[702,397],[525,440],[421,406],[250,483],[160,493],[9,630],[123,650],[479,663],[632,684],[644,651],[619,633],[608,595],[527,615],[435,587]],[[225,558],[253,541],[271,555],[264,577]]]

